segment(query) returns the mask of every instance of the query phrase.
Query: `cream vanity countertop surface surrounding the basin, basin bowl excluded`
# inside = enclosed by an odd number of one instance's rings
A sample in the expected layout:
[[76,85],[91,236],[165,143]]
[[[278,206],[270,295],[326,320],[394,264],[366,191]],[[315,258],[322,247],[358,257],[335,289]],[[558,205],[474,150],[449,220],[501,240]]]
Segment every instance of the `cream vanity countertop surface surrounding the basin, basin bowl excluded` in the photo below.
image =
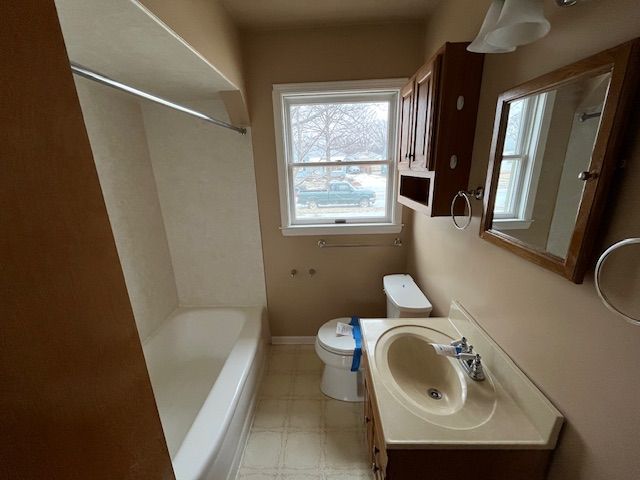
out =
[[[376,351],[379,340],[392,335],[394,330],[399,331],[399,327],[405,327],[405,331],[411,331],[413,327],[426,328],[438,335],[444,334],[445,337],[441,338],[451,340],[465,336],[474,345],[475,352],[482,355],[487,378],[474,384],[458,368],[457,375],[464,376],[460,383],[461,398],[464,399],[461,405],[454,405],[455,408],[444,414],[424,413],[416,409],[409,397],[403,397],[400,390],[394,388],[397,383],[386,367],[386,352],[382,352],[382,348]],[[363,354],[367,358],[372,383],[369,389],[373,390],[376,399],[387,448],[555,448],[564,421],[562,414],[458,303],[452,303],[448,318],[362,319],[361,329]],[[459,362],[454,358],[445,361],[456,366]],[[474,389],[476,393],[473,393]],[[485,405],[484,416],[475,424],[469,422],[474,413],[465,411],[466,404],[472,395],[475,395],[476,404],[484,402],[488,397],[487,391],[491,396],[490,403]],[[450,415],[459,416],[461,421],[447,425],[454,418]]]

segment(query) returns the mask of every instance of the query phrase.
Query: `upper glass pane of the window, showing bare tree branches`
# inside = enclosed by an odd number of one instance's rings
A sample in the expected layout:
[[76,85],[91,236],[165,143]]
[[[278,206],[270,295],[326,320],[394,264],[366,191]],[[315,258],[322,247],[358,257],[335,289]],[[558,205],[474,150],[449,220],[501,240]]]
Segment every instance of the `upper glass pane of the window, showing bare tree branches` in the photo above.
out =
[[389,102],[293,104],[291,162],[387,160]]

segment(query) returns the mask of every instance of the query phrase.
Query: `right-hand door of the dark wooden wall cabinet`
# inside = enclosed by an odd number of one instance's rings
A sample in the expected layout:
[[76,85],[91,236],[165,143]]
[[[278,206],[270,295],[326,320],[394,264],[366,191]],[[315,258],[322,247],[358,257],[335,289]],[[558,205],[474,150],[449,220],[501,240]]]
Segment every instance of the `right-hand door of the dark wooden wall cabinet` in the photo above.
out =
[[424,65],[415,77],[415,121],[413,152],[410,157],[412,170],[434,170],[435,125],[438,104],[438,55]]

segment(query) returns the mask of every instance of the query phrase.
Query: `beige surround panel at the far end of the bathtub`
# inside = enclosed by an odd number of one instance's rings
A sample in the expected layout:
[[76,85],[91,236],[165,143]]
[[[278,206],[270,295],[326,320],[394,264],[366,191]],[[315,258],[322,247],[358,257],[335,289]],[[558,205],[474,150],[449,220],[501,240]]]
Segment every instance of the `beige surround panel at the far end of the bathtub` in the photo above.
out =
[[[220,99],[189,105],[226,120]],[[251,134],[142,111],[180,305],[265,306]]]

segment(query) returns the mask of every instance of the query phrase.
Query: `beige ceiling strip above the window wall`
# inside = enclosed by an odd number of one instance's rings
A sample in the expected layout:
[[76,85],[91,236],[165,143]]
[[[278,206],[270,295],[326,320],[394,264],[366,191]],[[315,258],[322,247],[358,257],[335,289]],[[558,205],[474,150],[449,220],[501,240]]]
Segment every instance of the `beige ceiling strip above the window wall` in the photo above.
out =
[[242,28],[276,28],[421,21],[439,0],[218,1]]

